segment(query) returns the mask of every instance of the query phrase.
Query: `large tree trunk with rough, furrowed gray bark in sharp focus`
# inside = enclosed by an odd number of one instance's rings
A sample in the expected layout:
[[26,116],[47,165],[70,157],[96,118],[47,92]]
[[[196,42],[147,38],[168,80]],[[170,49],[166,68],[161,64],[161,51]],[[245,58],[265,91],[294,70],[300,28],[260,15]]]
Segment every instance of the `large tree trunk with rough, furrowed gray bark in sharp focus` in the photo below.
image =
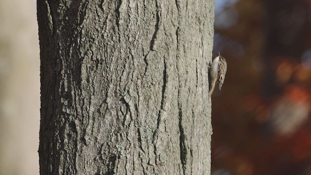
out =
[[209,175],[214,0],[37,0],[40,174]]

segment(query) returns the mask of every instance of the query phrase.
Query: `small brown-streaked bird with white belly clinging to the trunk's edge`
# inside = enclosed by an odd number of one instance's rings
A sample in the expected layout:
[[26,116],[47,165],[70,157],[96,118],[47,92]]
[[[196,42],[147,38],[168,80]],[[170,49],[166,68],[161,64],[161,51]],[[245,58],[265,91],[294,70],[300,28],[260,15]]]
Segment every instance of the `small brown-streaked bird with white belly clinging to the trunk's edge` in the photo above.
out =
[[209,70],[211,88],[209,90],[208,99],[212,95],[217,81],[219,81],[219,90],[222,89],[222,86],[225,81],[226,71],[227,71],[227,62],[225,61],[225,58],[222,57],[219,53],[219,55],[213,60],[213,63]]

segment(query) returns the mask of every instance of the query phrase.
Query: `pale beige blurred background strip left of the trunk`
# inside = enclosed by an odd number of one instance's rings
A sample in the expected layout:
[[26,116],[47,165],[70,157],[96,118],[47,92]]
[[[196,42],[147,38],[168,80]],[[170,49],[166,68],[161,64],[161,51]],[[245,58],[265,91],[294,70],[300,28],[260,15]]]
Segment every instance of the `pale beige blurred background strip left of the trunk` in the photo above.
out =
[[0,0],[0,175],[39,174],[37,28],[35,0]]

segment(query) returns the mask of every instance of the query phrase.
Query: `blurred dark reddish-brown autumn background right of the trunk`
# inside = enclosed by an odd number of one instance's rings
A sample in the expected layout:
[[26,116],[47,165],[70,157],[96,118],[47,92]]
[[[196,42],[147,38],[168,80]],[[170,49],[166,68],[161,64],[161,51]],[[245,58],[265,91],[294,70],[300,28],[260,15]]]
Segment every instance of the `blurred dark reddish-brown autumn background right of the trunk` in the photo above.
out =
[[216,0],[212,175],[311,175],[311,0]]

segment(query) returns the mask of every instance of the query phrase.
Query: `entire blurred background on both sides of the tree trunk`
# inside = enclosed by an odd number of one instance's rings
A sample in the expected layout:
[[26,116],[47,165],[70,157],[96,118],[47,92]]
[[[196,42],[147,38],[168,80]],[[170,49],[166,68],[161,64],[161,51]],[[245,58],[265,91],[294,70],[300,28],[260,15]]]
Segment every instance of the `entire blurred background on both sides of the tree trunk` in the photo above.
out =
[[[0,1],[0,175],[38,175],[35,0]],[[216,0],[212,175],[311,175],[311,0]]]

